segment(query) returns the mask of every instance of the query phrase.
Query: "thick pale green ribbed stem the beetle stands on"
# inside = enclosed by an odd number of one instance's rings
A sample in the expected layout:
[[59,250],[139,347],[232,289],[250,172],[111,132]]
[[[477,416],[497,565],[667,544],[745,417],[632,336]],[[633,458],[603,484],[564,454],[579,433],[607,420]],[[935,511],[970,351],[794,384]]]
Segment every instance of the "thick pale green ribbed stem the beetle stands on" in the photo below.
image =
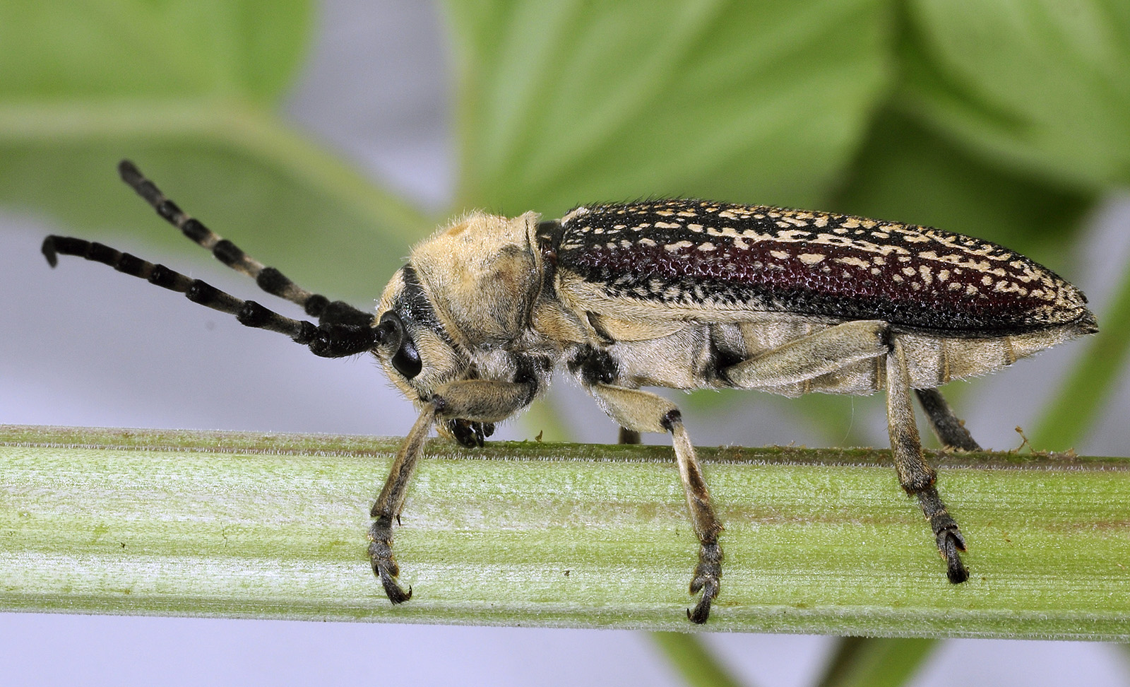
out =
[[[0,609],[694,631],[670,449],[433,441],[368,569],[398,440],[0,428]],[[886,451],[702,449],[727,525],[706,629],[1130,637],[1130,461],[935,455],[973,575],[945,580]]]

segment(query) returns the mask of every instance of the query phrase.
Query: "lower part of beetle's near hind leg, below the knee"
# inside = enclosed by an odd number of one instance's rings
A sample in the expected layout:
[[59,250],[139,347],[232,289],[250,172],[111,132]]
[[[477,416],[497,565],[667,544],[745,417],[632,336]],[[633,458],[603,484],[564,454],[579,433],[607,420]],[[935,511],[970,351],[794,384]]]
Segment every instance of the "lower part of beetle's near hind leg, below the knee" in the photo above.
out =
[[893,338],[887,354],[887,428],[898,484],[907,494],[918,497],[922,513],[933,530],[938,550],[946,559],[949,581],[955,584],[965,582],[970,572],[958,556],[958,551],[965,550],[965,538],[938,496],[938,488],[935,486],[937,473],[922,456],[922,442],[914,423],[914,408],[911,406],[906,353],[897,337]]

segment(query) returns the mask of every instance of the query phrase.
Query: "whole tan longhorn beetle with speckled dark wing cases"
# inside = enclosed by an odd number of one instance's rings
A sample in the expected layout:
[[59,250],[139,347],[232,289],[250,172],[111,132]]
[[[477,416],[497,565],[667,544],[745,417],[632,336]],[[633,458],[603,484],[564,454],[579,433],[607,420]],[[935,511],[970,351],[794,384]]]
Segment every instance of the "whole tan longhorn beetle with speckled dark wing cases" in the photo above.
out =
[[976,442],[937,386],[994,372],[1097,331],[1087,299],[1006,247],[939,229],[836,215],[672,199],[460,217],[411,251],[376,313],[297,286],[185,215],[131,163],[119,172],[157,214],[264,292],[318,324],[285,318],[164,266],[99,243],[47,236],[43,254],[80,255],[183,293],[247,327],[287,334],[323,357],[371,353],[419,408],[373,504],[368,554],[389,600],[392,523],[433,426],[481,446],[564,367],[620,427],[670,433],[698,537],[687,616],[705,623],[722,576],[714,514],[679,409],[641,386],[887,392],[903,489],[918,498],[953,583],[968,577],[965,539],[922,456],[911,391],[947,446]]

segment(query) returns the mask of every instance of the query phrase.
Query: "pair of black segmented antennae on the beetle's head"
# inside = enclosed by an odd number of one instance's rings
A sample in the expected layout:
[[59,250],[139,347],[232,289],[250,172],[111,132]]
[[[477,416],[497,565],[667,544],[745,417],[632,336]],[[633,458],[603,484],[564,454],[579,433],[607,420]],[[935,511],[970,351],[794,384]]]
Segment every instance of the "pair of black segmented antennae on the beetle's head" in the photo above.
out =
[[118,165],[122,181],[157,210],[169,224],[232,269],[255,280],[264,292],[286,298],[318,318],[319,324],[305,320],[292,320],[255,303],[243,301],[218,288],[192,279],[163,264],[154,264],[116,251],[101,243],[69,236],[47,236],[43,241],[43,255],[51,267],[58,263],[58,255],[78,255],[95,262],[108,264],[120,272],[132,275],[164,288],[182,293],[193,303],[233,314],[241,324],[284,333],[296,342],[308,346],[314,355],[338,358],[372,350],[389,338],[390,327],[377,325],[371,313],[360,311],[342,301],[330,302],[325,296],[311,293],[290,281],[282,272],[251,258],[234,243],[221,238],[198,219],[188,216],[172,200],[146,179],[129,160]]

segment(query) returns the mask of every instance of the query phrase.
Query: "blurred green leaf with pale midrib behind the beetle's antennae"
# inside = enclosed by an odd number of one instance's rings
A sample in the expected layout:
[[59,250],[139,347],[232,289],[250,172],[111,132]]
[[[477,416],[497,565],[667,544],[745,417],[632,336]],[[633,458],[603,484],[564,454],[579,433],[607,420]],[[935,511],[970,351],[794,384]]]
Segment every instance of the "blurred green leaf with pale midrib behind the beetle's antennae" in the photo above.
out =
[[0,203],[194,250],[118,181],[131,157],[299,282],[374,297],[431,223],[275,113],[310,18],[306,0],[0,5]]

